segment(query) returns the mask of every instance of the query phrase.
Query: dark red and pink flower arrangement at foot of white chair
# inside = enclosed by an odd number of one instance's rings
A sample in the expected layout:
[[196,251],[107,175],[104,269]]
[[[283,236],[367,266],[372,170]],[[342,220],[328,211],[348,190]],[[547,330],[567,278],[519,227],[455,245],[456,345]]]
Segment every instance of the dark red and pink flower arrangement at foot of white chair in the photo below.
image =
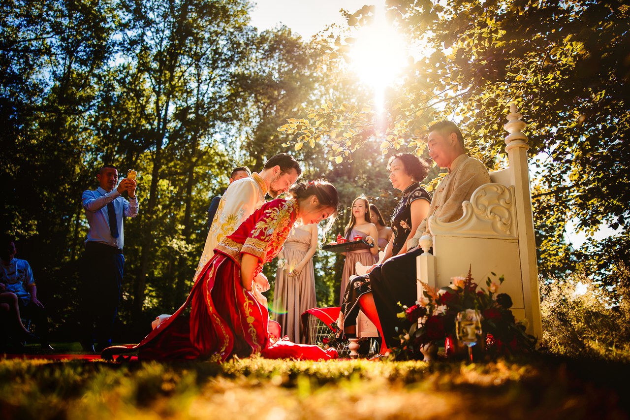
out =
[[[496,274],[492,273],[493,276]],[[503,283],[486,281],[487,290],[478,289],[471,272],[466,277],[452,277],[452,283],[442,289],[424,284],[424,293],[416,305],[407,308],[399,318],[412,323],[409,332],[401,335],[397,352],[418,353],[429,344],[441,344],[447,337],[455,339],[457,313],[470,313],[470,318],[481,315],[481,330],[486,334],[488,354],[512,354],[517,351],[533,351],[536,338],[525,332],[527,325],[517,322],[510,310],[512,298],[507,293],[497,293]]]

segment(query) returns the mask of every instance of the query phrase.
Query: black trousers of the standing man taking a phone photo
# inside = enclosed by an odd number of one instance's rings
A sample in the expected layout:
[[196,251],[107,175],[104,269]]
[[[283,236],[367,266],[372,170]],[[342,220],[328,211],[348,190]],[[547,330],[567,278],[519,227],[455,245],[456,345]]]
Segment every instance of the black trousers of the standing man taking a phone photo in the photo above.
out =
[[118,313],[125,257],[122,250],[104,243],[86,243],[83,254],[81,342],[99,346],[112,344],[114,320]]

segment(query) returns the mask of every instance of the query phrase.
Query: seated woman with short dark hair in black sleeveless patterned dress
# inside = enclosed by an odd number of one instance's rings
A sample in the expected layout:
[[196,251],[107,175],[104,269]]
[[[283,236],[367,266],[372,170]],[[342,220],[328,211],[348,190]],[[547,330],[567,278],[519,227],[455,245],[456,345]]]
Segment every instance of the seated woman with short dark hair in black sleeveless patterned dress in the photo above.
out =
[[[385,247],[381,263],[391,258],[392,255],[401,255],[406,252],[407,241],[416,232],[422,219],[427,216],[431,202],[431,195],[420,186],[420,181],[427,177],[429,170],[429,166],[425,161],[420,160],[418,156],[411,153],[399,153],[389,158],[387,169],[389,169],[389,180],[392,183],[392,187],[401,190],[403,196],[392,213],[391,227],[393,235]],[[372,265],[370,269],[374,267],[375,265]],[[365,276],[353,279],[346,289],[341,303],[338,325],[343,327],[345,334],[348,336],[355,334],[355,320],[358,314],[359,300],[364,307],[372,308],[371,313],[375,313],[371,291],[369,279]],[[378,321],[378,318],[375,316],[372,318]],[[370,320],[374,322],[372,318]],[[377,322],[374,322],[374,324],[381,332],[380,325]]]

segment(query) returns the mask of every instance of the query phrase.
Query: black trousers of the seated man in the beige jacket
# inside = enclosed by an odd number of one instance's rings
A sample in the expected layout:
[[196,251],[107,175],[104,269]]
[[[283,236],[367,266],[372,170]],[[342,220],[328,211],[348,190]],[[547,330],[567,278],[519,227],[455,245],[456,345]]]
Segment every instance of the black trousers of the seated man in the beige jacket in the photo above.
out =
[[418,248],[407,254],[397,255],[374,267],[369,274],[383,339],[389,348],[399,346],[399,336],[403,334],[403,329],[409,330],[411,327],[410,322],[396,315],[403,311],[401,305],[412,306],[418,300],[416,257],[420,254],[422,250]]

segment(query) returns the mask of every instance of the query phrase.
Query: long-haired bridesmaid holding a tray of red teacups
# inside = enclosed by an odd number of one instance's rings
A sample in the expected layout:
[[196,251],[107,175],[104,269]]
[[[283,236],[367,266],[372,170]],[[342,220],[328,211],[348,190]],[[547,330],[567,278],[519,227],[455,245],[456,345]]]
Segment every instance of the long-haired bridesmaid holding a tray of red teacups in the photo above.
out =
[[352,202],[352,214],[350,221],[345,229],[345,238],[347,242],[353,241],[355,236],[361,236],[362,240],[367,243],[373,243],[374,247],[365,248],[356,251],[342,252],[346,256],[343,263],[343,274],[341,276],[341,293],[340,305],[343,301],[343,295],[346,291],[350,276],[356,275],[355,267],[357,262],[368,267],[378,260],[379,247],[379,231],[376,230],[374,223],[370,223],[372,216],[370,214],[370,203],[365,197],[357,197]]

